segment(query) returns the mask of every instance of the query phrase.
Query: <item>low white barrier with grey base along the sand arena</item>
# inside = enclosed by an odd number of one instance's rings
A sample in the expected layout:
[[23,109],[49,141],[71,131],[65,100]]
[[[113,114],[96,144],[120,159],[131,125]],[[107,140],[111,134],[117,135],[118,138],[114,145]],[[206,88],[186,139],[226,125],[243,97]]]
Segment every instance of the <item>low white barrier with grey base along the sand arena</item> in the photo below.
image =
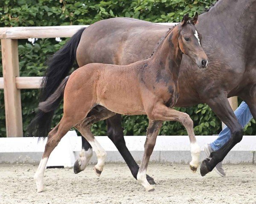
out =
[[[201,146],[201,160],[206,158],[203,145],[212,142],[217,136],[196,136]],[[107,136],[97,136],[96,139],[107,151],[108,163],[124,163],[122,156]],[[145,136],[125,136],[125,142],[134,159],[140,163],[143,157]],[[0,138],[0,163],[32,163],[38,164],[44,151],[46,141],[38,138]],[[75,131],[69,131],[58,145],[49,163],[56,166],[73,166],[81,150],[81,137]],[[244,136],[243,140],[230,151],[224,163],[256,164],[256,136]],[[68,154],[67,154],[68,153]],[[55,156],[54,156],[55,155]],[[70,160],[70,158],[72,158]],[[50,160],[51,159],[51,160]],[[65,161],[68,160],[68,161]],[[191,160],[188,136],[158,136],[151,162],[188,164]],[[62,163],[61,163],[62,162]],[[91,164],[96,164],[97,158],[93,152]]]

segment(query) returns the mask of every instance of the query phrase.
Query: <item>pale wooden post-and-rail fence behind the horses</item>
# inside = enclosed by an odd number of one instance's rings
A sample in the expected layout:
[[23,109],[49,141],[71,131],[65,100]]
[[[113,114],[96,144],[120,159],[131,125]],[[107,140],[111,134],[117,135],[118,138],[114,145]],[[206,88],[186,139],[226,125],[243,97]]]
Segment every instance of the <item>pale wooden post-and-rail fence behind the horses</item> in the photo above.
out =
[[[160,24],[174,26],[175,23]],[[88,26],[0,28],[3,63],[0,89],[4,90],[7,137],[23,136],[20,89],[40,88],[42,81],[42,77],[20,77],[18,39],[72,37],[80,28],[84,27]],[[230,98],[230,104],[235,110],[237,97]]]

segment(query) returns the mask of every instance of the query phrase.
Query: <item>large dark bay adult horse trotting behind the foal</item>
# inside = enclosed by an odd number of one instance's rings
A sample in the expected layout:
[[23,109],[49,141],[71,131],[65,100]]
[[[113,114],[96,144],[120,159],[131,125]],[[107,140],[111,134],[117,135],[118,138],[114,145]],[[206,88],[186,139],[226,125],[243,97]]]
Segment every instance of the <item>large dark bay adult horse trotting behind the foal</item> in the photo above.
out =
[[[199,15],[197,28],[204,36],[202,46],[209,58],[209,68],[198,70],[189,57],[183,57],[180,97],[175,106],[207,103],[232,133],[227,144],[213,152],[210,161],[204,160],[202,163],[201,174],[204,176],[242,139],[242,127],[227,97],[240,96],[256,119],[256,0],[219,0],[209,11]],[[79,66],[91,62],[128,65],[148,58],[168,29],[169,26],[131,18],[112,18],[78,31],[52,57],[44,78],[41,101],[45,101],[58,88],[74,60]],[[88,117],[97,117],[101,110],[96,106]],[[33,136],[47,136],[52,115],[53,111],[39,111],[30,125],[30,133]],[[108,137],[128,164],[134,178],[137,178],[139,166],[125,146],[121,116],[117,114],[109,118],[107,125]],[[75,173],[84,170],[92,156],[90,144],[83,137],[82,142],[83,149],[74,166]],[[154,183],[149,176],[148,180]]]

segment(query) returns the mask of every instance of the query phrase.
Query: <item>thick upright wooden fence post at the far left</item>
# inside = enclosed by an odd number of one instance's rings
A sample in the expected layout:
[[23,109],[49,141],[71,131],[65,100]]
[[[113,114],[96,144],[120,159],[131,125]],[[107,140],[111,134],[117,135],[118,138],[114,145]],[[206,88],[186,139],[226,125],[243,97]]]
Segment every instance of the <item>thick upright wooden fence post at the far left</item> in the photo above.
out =
[[22,137],[22,114],[20,90],[16,88],[15,77],[20,76],[18,40],[1,39],[4,104],[6,115],[6,136]]

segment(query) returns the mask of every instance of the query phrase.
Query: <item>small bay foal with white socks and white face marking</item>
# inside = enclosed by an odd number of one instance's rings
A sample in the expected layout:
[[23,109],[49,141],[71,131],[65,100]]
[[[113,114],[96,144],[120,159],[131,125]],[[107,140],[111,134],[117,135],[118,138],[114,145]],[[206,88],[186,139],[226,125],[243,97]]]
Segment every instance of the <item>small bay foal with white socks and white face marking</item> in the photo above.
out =
[[[196,143],[193,122],[188,114],[172,109],[179,96],[182,54],[188,55],[201,68],[208,65],[207,56],[201,47],[201,35],[195,28],[197,19],[198,14],[192,20],[186,14],[182,22],[163,37],[151,58],[125,66],[100,63],[85,65],[64,79],[47,101],[40,103],[41,111],[51,111],[64,90],[64,115],[50,131],[35,173],[38,192],[43,190],[44,170],[50,153],[71,127],[76,127],[95,150],[98,163],[94,170],[100,176],[106,152],[91,133],[90,125],[116,113],[148,116],[145,150],[137,174],[137,180],[146,190],[154,190],[146,179],[146,170],[163,121],[179,121],[186,127],[192,155],[189,166],[193,172],[197,170],[200,148]],[[108,110],[99,111],[100,116],[86,118],[96,105]]]

